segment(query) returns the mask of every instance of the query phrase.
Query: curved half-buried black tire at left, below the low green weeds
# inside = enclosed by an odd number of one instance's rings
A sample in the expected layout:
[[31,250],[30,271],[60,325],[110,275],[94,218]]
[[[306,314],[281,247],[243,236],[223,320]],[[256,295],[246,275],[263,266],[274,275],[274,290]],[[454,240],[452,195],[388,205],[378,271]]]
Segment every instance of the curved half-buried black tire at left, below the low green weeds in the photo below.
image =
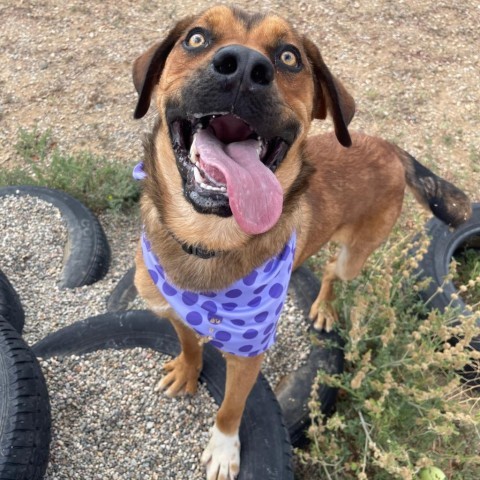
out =
[[68,230],[61,288],[91,285],[105,276],[110,247],[98,219],[81,202],[60,190],[31,185],[0,188],[0,197],[6,195],[38,197],[60,210]]

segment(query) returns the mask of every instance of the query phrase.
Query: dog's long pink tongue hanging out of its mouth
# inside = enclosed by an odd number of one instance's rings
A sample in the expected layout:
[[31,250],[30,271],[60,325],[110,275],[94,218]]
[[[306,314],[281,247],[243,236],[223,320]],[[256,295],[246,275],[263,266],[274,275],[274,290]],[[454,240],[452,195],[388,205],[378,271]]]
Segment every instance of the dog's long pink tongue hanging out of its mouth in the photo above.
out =
[[240,228],[251,235],[270,230],[282,213],[283,190],[277,177],[261,162],[258,142],[225,145],[205,129],[196,134],[195,146],[202,169],[226,183],[230,208]]

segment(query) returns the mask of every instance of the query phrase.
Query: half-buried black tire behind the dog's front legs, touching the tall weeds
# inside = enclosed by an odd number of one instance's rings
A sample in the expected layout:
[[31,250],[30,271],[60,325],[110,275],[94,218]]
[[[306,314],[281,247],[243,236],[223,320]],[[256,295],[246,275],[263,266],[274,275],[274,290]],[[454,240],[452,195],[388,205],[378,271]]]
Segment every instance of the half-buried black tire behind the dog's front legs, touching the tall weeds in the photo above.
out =
[[[120,279],[107,300],[109,311],[126,310],[135,299],[137,290],[133,284],[135,267],[128,270]],[[318,278],[306,267],[297,268],[289,285],[290,294],[297,300],[298,306],[308,320],[308,313],[320,290]],[[335,332],[318,332],[311,328],[318,342],[312,345],[306,364],[286,376],[275,391],[282,408],[285,424],[290,433],[290,439],[295,447],[304,446],[307,439],[305,430],[310,425],[308,401],[311,387],[318,370],[330,374],[343,372],[344,352],[343,342]],[[321,410],[325,415],[331,415],[335,409],[338,389],[321,385],[318,391]]]

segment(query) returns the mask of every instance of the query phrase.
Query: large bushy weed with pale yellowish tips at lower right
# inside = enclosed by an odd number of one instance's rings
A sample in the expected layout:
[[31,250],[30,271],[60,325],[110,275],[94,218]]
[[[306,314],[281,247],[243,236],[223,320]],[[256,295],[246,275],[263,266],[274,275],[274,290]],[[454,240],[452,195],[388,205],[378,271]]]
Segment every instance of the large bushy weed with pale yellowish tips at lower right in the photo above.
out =
[[412,257],[407,238],[390,241],[338,289],[346,366],[317,378],[340,389],[332,417],[312,389],[310,449],[298,452],[312,478],[412,480],[429,466],[449,479],[480,478],[478,397],[458,374],[480,358],[469,349],[480,312],[459,326],[451,309],[426,310],[412,272],[427,244],[419,240]]

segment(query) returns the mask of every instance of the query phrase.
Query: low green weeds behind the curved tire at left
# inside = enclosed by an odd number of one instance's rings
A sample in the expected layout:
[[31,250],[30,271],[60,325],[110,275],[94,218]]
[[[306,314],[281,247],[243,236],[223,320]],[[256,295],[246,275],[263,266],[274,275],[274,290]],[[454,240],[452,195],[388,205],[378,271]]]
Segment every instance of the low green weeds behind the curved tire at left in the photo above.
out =
[[56,188],[97,212],[128,208],[139,198],[131,167],[88,152],[63,153],[55,147],[49,131],[20,130],[16,150],[25,166],[0,171],[0,186]]

